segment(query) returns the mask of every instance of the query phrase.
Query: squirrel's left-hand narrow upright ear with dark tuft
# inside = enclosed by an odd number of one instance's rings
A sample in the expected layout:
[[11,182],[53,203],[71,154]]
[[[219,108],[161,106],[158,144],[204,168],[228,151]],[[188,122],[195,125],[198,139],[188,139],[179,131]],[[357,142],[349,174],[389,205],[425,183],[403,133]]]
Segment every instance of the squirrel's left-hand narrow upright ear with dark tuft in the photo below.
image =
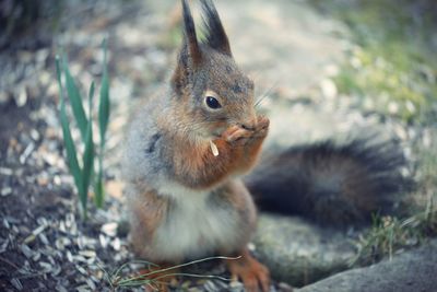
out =
[[192,20],[190,8],[187,0],[182,0],[182,14],[184,14],[184,48],[188,49],[189,58],[193,66],[200,63],[202,54],[199,48],[198,38],[196,36],[194,21]]

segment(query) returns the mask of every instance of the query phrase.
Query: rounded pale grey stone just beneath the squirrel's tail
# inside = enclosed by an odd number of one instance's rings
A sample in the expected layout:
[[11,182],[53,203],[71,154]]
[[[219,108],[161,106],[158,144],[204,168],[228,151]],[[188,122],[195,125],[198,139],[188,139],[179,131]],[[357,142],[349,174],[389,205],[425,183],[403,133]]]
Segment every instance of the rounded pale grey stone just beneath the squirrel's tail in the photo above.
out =
[[293,217],[261,214],[253,243],[272,278],[297,287],[347,269],[355,256],[342,232]]

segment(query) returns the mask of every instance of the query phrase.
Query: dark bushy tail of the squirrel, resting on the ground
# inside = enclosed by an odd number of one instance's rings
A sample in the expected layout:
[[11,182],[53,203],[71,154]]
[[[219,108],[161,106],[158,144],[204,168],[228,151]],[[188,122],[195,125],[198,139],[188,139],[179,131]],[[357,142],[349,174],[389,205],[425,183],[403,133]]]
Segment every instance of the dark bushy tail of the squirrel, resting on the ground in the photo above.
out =
[[393,141],[356,139],[343,145],[326,141],[299,145],[264,160],[245,178],[263,211],[299,214],[319,223],[366,223],[387,213],[397,196],[412,188]]

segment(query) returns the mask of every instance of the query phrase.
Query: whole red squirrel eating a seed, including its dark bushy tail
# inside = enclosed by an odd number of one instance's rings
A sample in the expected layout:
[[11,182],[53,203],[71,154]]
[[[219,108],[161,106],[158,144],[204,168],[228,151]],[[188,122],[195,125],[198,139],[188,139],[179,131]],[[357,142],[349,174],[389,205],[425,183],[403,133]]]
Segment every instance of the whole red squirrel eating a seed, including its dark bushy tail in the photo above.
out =
[[365,141],[293,148],[256,168],[247,187],[241,177],[258,161],[269,119],[256,112],[253,82],[236,65],[213,2],[201,0],[201,42],[181,3],[184,43],[169,85],[145,101],[127,135],[131,246],[162,267],[238,256],[225,260],[232,277],[267,292],[269,270],[247,248],[257,222],[250,192],[267,210],[361,220],[379,208],[379,195],[399,190],[400,155]]

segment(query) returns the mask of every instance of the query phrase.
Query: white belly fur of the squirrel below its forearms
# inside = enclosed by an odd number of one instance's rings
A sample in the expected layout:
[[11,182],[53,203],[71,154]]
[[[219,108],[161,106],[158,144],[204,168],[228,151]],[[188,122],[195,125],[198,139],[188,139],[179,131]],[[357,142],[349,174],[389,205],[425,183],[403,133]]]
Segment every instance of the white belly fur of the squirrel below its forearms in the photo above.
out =
[[209,196],[214,195],[187,188],[172,189],[173,203],[154,236],[156,256],[182,260],[232,249],[238,244],[240,219],[237,211]]

